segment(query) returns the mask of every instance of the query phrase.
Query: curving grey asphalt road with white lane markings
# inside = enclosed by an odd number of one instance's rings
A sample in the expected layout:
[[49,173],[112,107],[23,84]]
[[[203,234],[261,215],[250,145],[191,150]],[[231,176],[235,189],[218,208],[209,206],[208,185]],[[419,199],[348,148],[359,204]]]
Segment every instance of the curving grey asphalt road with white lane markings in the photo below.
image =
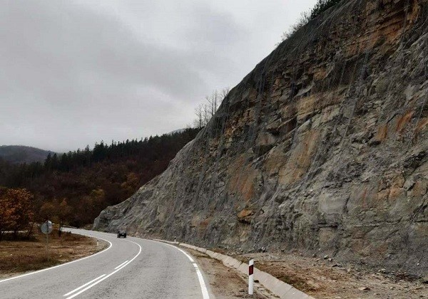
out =
[[142,238],[66,229],[110,243],[93,256],[0,280],[0,298],[210,298],[203,273],[179,248]]

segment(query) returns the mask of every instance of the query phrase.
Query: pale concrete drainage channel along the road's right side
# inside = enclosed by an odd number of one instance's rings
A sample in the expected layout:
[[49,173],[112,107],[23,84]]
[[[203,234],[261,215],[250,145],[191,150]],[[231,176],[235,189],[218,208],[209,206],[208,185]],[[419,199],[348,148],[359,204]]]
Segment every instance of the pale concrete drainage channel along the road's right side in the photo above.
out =
[[[248,264],[241,263],[235,258],[232,258],[231,256],[225,256],[224,254],[217,253],[214,251],[210,251],[205,248],[200,248],[197,246],[189,245],[186,243],[177,243],[177,242],[171,242],[171,241],[165,241],[165,240],[158,240],[165,243],[170,243],[173,245],[180,245],[183,247],[187,247],[190,249],[193,249],[195,251],[199,251],[201,253],[205,253],[206,255],[210,256],[211,258],[215,258],[218,261],[221,261],[223,265],[234,268],[238,270],[240,273],[243,273],[245,276],[248,276]],[[273,276],[271,276],[269,273],[260,271],[258,268],[254,268],[254,279],[258,280],[263,287],[267,288],[267,290],[270,290],[270,292],[273,295],[278,296],[279,298],[284,299],[314,299],[310,295],[307,295],[303,293],[300,290],[297,290],[297,288],[293,288],[288,283],[283,282],[282,280],[279,280]]]

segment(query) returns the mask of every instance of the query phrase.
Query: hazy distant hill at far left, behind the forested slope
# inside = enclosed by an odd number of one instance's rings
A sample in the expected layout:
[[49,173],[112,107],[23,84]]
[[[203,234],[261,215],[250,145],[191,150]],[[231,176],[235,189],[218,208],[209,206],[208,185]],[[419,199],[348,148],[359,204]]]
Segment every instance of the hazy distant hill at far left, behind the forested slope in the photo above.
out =
[[1,145],[0,158],[11,163],[44,162],[49,153],[36,147],[25,147],[23,145]]

